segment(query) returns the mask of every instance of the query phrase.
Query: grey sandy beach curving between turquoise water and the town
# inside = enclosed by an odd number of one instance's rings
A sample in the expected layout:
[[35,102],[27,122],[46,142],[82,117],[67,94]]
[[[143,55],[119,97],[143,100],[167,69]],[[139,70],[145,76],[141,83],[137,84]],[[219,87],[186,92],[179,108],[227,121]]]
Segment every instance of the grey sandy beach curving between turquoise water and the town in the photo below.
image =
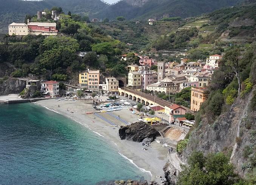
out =
[[[100,137],[104,137],[110,145],[114,145],[118,148],[119,154],[126,158],[126,160],[130,160],[130,162],[136,165],[140,170],[145,171],[145,173],[151,174],[151,180],[160,182],[161,179],[164,179],[162,169],[167,162],[168,149],[163,148],[159,143],[153,142],[151,146],[147,147],[148,150],[143,150],[145,146],[142,146],[142,143],[120,140],[117,127],[105,127],[111,125],[94,114],[85,114],[93,110],[93,105],[91,104],[64,100],[57,101],[55,99],[40,100],[36,102],[36,104],[45,106],[45,108],[69,117],[89,128]],[[120,118],[125,121],[133,122],[137,120],[137,116],[133,115],[128,109],[111,113],[120,116]],[[100,115],[116,125],[123,124],[106,113],[100,113]],[[162,176],[162,178],[157,176]]]

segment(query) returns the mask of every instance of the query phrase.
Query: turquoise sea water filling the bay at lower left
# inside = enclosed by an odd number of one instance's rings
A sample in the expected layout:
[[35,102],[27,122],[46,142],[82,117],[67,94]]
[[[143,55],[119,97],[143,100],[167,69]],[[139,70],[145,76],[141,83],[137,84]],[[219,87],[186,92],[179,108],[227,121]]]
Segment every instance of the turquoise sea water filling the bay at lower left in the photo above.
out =
[[148,180],[103,137],[39,105],[0,105],[0,184]]

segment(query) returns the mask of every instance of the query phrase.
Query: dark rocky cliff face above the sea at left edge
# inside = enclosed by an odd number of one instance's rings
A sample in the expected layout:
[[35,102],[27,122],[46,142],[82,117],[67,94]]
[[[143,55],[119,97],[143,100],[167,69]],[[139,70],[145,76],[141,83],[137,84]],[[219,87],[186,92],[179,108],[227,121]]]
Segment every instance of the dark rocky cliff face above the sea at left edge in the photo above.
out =
[[26,87],[26,81],[9,78],[0,81],[0,95],[20,93]]

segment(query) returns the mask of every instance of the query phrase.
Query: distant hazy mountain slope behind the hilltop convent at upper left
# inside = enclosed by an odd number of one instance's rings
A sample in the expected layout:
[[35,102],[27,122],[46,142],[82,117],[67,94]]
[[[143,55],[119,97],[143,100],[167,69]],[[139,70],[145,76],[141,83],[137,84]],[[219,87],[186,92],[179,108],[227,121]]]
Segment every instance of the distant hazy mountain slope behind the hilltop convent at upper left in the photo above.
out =
[[0,0],[0,33],[5,33],[7,25],[12,22],[24,22],[26,14],[34,15],[37,11],[53,6],[61,7],[66,13],[71,11],[74,14],[93,15],[109,5],[100,0]]

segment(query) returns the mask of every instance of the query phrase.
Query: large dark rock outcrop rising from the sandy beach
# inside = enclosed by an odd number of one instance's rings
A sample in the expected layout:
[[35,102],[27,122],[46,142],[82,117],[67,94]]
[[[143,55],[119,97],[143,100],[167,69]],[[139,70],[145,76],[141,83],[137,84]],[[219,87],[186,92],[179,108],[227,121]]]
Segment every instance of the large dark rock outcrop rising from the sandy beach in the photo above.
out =
[[119,129],[119,137],[124,140],[129,140],[133,142],[142,142],[145,138],[150,143],[156,136],[158,132],[152,128],[150,125],[147,125],[144,122],[132,123],[128,126],[121,126]]

